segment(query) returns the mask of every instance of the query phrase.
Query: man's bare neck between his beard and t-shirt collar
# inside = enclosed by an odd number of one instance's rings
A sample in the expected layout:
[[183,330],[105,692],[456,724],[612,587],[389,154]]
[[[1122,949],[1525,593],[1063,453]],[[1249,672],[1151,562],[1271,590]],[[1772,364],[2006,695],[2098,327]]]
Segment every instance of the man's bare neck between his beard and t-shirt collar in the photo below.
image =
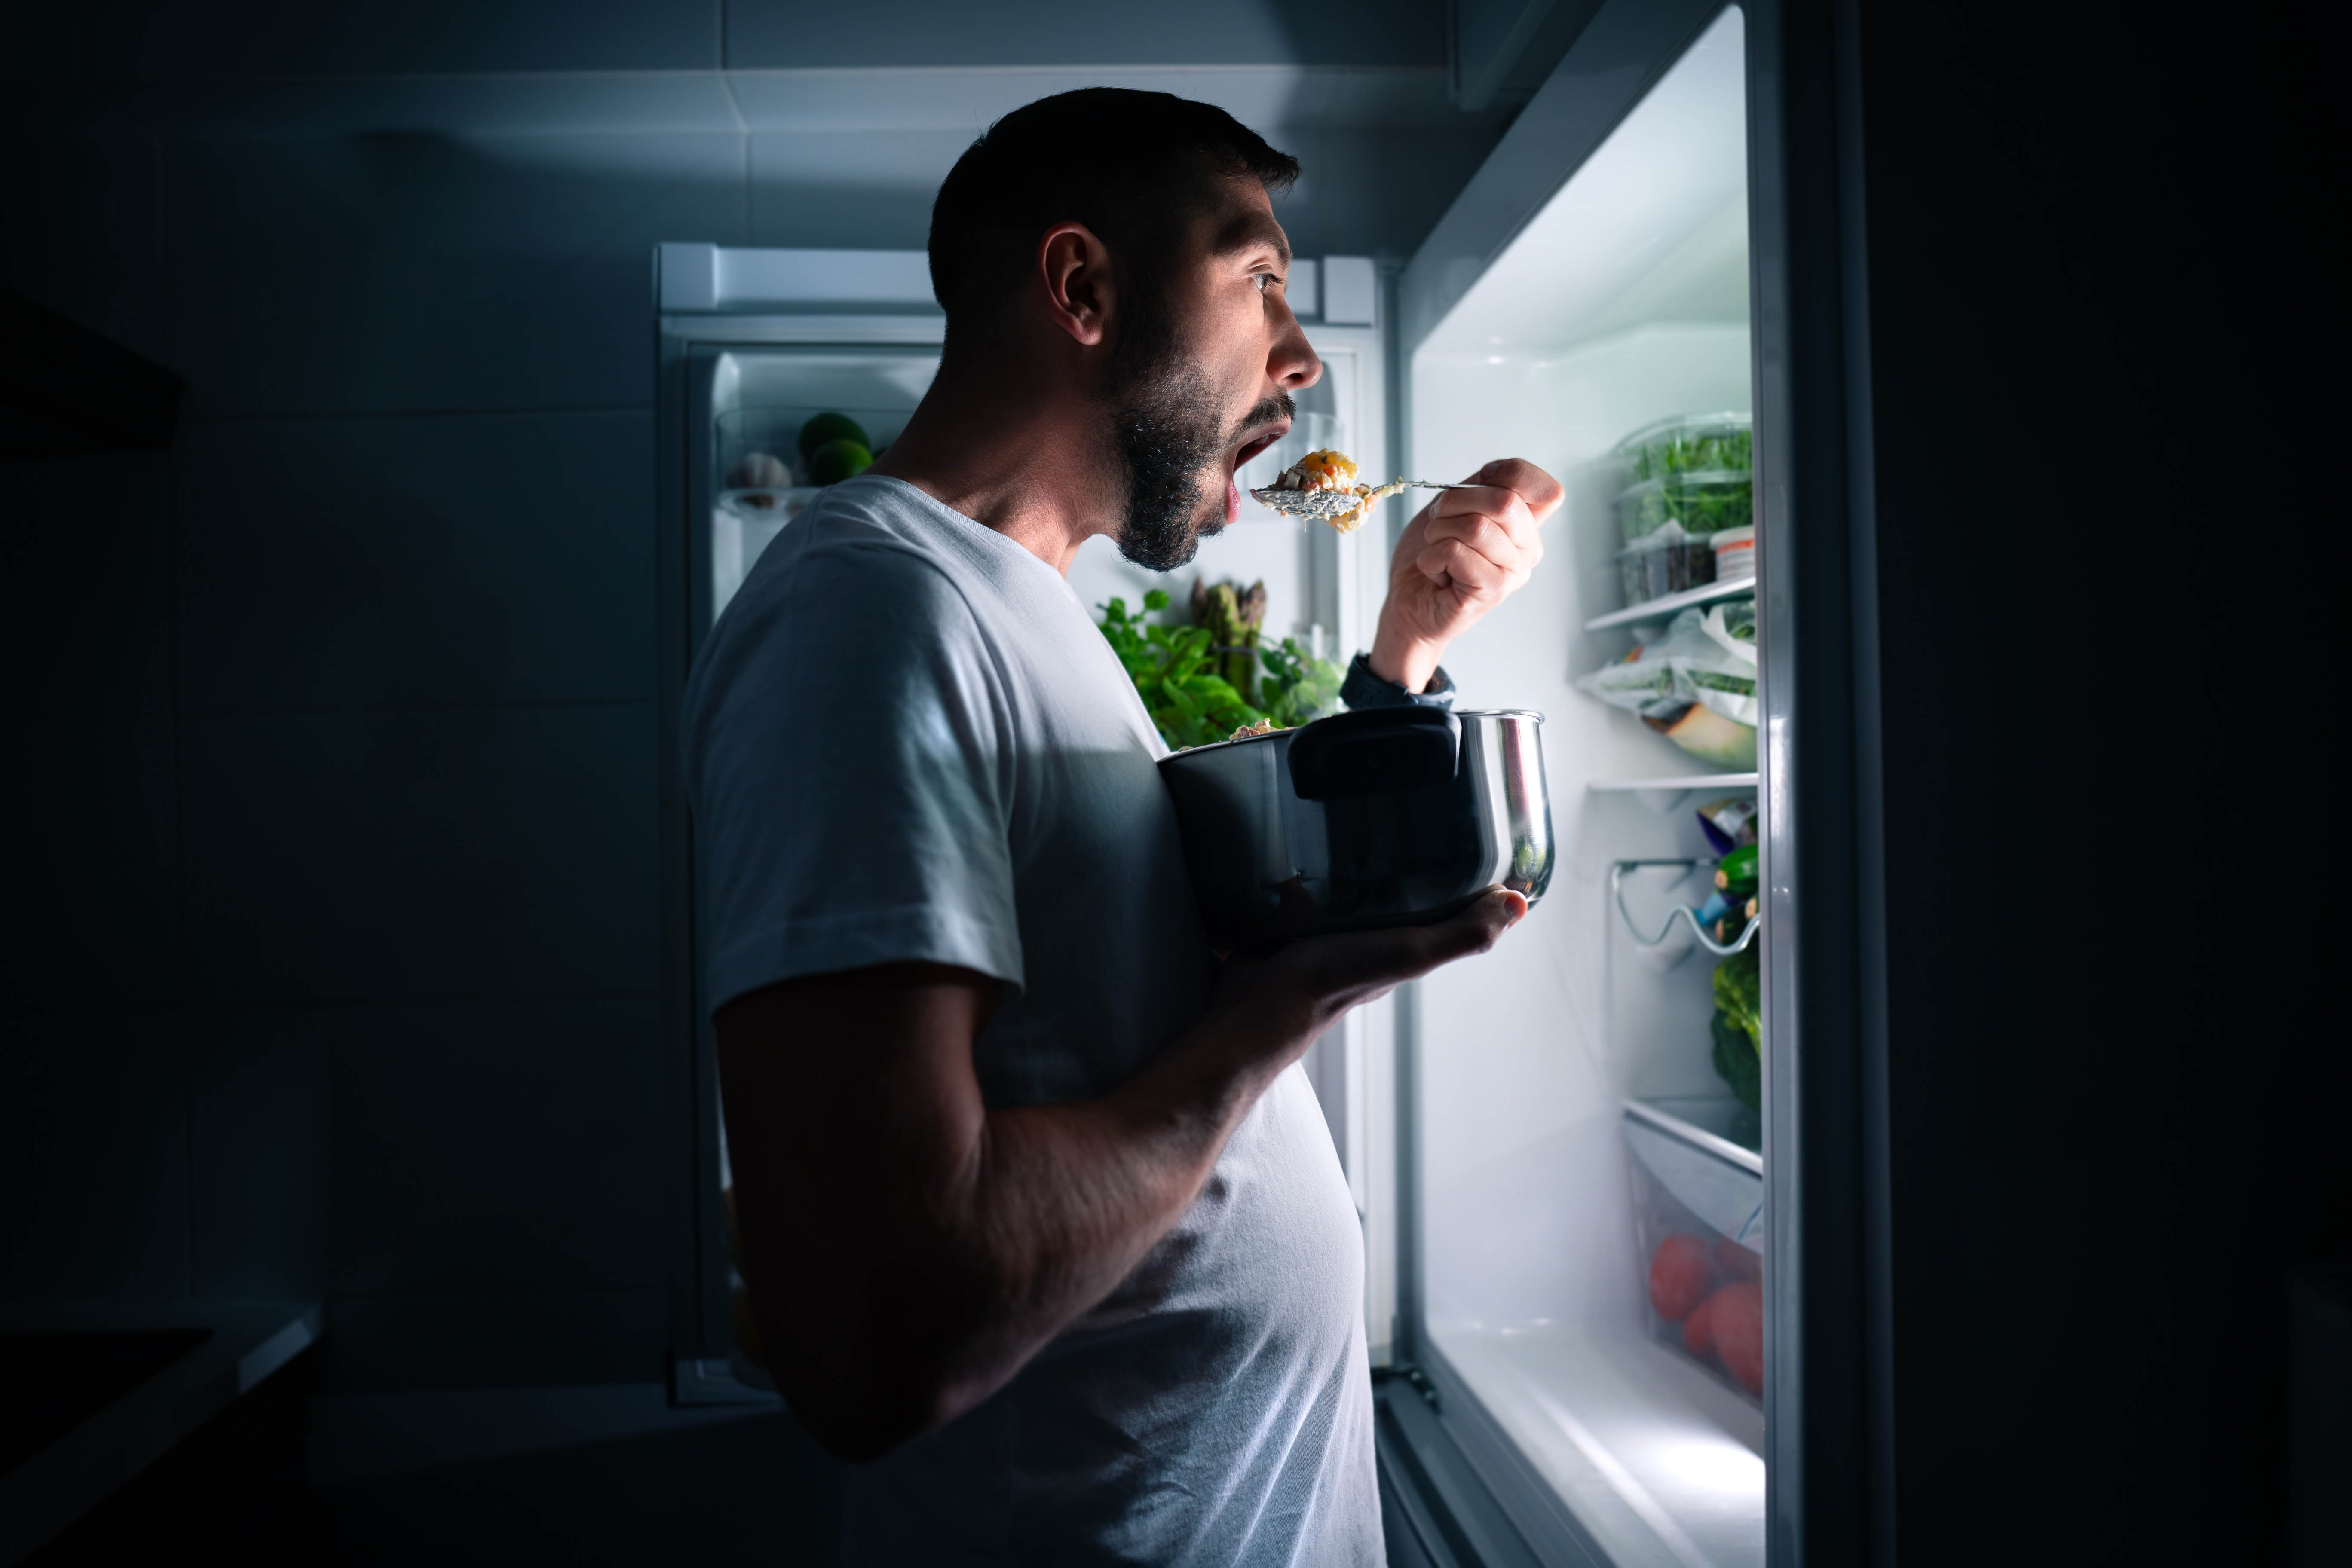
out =
[[[985,381],[985,383],[983,383]],[[873,473],[1004,534],[1068,576],[1077,548],[1117,527],[1101,409],[1042,378],[941,367]]]

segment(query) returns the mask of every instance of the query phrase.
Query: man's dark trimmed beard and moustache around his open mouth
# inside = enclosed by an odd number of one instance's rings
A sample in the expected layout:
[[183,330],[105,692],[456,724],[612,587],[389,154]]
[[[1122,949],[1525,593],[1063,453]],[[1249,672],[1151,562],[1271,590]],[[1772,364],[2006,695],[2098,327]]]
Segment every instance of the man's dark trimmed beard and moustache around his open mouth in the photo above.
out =
[[[1110,433],[1127,470],[1127,508],[1112,536],[1120,555],[1148,571],[1174,571],[1200,552],[1202,534],[1225,529],[1225,496],[1204,496],[1228,442],[1291,411],[1268,397],[1228,435],[1216,390],[1178,348],[1160,301],[1129,320],[1110,364]],[[1223,491],[1223,484],[1218,484]]]

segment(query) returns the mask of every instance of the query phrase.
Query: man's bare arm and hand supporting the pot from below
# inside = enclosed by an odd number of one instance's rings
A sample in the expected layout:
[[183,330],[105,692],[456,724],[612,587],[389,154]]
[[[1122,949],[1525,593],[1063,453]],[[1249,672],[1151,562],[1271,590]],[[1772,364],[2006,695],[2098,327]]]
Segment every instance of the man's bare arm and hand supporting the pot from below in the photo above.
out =
[[1341,1013],[1494,945],[1496,891],[1437,926],[1225,961],[1209,1016],[1101,1100],[981,1103],[997,983],[887,964],[717,1013],[746,1274],[769,1363],[828,1448],[889,1453],[1002,1387],[1200,1194],[1265,1086]]

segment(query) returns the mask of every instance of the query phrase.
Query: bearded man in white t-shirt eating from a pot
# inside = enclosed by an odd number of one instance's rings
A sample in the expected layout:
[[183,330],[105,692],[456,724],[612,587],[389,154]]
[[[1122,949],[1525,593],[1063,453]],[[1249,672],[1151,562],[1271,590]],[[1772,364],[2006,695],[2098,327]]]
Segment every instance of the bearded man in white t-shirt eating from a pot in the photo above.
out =
[[[1437,926],[1218,961],[1167,755],[1063,571],[1171,569],[1322,374],[1223,110],[1000,120],[931,219],[938,378],[786,529],[687,696],[703,950],[760,1331],[875,1563],[1378,1563],[1362,1237],[1294,1063],[1479,952]],[[1559,487],[1517,461],[1395,555],[1348,701],[1446,701]]]

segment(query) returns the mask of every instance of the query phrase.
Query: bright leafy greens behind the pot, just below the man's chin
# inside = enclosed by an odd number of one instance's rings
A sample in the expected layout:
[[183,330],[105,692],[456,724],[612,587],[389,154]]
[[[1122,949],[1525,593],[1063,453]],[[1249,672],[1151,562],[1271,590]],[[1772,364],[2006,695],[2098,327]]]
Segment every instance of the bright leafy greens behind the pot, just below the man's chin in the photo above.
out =
[[1223,672],[1225,656],[1216,651],[1209,628],[1143,621],[1167,607],[1167,592],[1152,588],[1143,595],[1141,614],[1129,611],[1127,599],[1112,599],[1101,611],[1103,639],[1171,748],[1230,741],[1232,731],[1258,722],[1296,729],[1338,698],[1341,672],[1284,637],[1282,649],[1258,649],[1265,661],[1265,677],[1258,682],[1265,708],[1251,705]]

